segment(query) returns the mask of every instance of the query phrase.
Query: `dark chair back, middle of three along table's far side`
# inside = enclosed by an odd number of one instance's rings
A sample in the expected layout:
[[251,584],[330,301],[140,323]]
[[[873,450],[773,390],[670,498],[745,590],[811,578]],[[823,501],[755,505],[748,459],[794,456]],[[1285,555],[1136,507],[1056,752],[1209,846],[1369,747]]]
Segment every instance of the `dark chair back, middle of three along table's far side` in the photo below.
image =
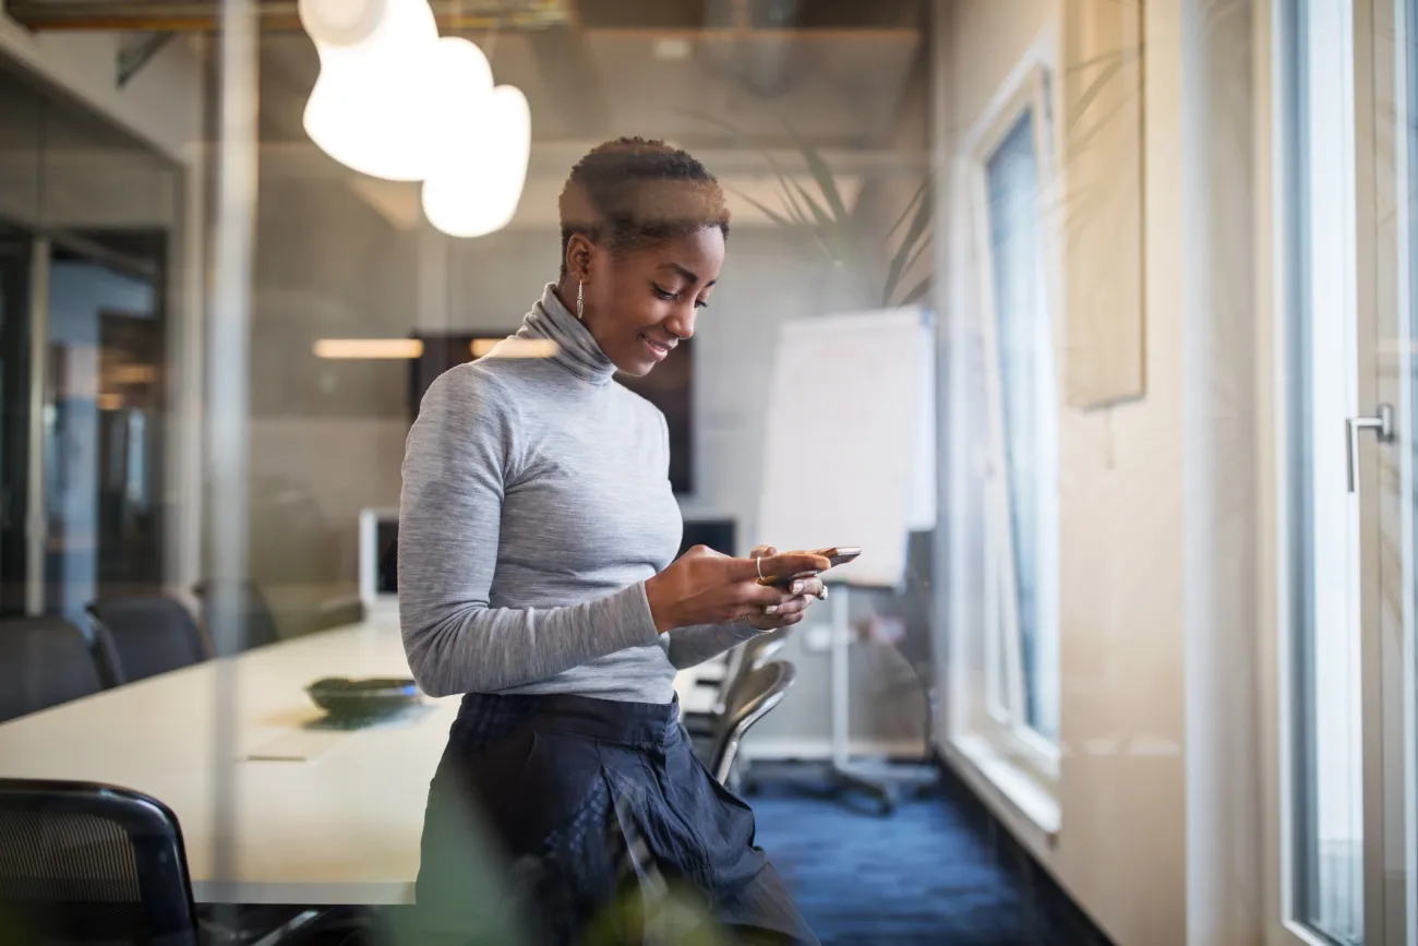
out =
[[99,599],[88,606],[95,640],[108,654],[112,685],[166,674],[211,657],[191,613],[174,599],[150,594]]

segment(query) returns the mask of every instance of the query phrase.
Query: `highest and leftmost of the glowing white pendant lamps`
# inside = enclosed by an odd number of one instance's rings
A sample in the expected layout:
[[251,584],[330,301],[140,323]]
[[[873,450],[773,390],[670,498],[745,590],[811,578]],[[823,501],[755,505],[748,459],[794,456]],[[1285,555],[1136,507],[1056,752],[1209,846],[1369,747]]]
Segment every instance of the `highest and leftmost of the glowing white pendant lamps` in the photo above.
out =
[[[330,14],[342,1],[306,0],[301,7],[320,55],[305,132],[346,167],[387,180],[423,180],[437,112],[432,10],[427,0],[359,0],[369,11]],[[328,16],[320,20],[319,11]],[[356,41],[333,44],[322,35]]]

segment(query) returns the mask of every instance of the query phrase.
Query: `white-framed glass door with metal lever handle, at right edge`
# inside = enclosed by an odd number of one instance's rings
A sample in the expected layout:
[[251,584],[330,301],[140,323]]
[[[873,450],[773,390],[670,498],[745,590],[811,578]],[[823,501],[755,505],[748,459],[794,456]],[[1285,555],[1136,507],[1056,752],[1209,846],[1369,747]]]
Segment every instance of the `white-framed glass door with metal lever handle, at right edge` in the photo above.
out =
[[1271,10],[1286,279],[1269,939],[1414,946],[1418,0]]

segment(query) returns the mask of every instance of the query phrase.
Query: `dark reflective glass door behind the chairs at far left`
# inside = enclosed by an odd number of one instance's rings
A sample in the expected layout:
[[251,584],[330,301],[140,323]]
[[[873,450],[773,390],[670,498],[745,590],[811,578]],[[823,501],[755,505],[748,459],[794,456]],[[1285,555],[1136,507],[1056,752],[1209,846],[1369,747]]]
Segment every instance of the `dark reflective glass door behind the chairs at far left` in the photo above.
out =
[[162,586],[162,247],[115,241],[50,260],[45,611],[79,621],[96,597]]

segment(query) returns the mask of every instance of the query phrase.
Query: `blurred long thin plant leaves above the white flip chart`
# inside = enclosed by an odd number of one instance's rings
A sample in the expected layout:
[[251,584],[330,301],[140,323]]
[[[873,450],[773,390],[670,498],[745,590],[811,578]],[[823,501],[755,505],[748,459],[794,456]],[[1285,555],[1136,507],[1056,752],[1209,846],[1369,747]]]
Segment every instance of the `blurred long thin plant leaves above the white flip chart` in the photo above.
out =
[[[732,122],[702,112],[695,112],[695,116],[729,132],[736,140],[749,143],[747,135]],[[876,304],[903,306],[925,298],[930,291],[929,272],[909,286],[905,281],[912,274],[912,267],[934,243],[930,176],[920,182],[886,235],[873,238],[872,223],[864,213],[865,203],[858,200],[848,207],[837,186],[837,174],[822,153],[787,122],[784,128],[803,157],[811,186],[805,186],[800,176],[787,173],[771,152],[760,148],[759,153],[777,179],[781,206],[769,207],[743,191],[730,190],[784,231],[808,241],[834,269],[845,272],[848,278],[864,281]]]

